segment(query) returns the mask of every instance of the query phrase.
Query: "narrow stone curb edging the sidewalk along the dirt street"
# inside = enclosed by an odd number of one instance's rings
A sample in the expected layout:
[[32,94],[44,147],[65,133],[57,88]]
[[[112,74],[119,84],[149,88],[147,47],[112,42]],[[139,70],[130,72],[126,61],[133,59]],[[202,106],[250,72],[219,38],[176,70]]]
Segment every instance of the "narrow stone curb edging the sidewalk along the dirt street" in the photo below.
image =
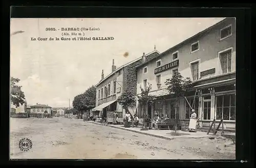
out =
[[[96,122],[88,122],[88,123],[93,123],[93,124],[98,124],[101,125],[101,123],[96,123]],[[200,137],[166,137],[166,136],[161,136],[161,135],[154,135],[151,133],[146,133],[146,132],[141,132],[141,131],[137,131],[137,130],[131,130],[131,129],[126,129],[126,128],[122,128],[122,127],[115,127],[113,125],[108,125],[109,127],[112,128],[117,128],[117,129],[122,129],[122,130],[126,130],[126,131],[130,131],[130,132],[135,132],[135,133],[140,133],[140,134],[144,134],[144,135],[148,135],[148,136],[154,136],[154,137],[158,137],[158,138],[162,138],[162,139],[167,139],[167,140],[173,140],[175,138],[202,138],[202,137],[212,137],[212,135],[208,135],[208,136],[200,136]],[[216,135],[218,136],[218,135]]]

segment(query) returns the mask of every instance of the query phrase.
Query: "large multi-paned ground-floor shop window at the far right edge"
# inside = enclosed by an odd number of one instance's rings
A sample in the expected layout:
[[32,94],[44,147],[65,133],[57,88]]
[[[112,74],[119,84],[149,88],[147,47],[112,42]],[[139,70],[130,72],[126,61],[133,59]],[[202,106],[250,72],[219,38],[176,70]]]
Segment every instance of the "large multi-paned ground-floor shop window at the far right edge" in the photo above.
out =
[[216,96],[216,120],[236,120],[236,95]]

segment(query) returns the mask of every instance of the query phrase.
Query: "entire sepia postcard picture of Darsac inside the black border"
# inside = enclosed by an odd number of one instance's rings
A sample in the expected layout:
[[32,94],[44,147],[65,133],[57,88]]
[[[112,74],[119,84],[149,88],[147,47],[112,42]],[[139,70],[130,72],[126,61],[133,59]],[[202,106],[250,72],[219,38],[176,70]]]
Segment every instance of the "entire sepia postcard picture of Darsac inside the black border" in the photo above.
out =
[[236,159],[236,18],[11,18],[9,149]]

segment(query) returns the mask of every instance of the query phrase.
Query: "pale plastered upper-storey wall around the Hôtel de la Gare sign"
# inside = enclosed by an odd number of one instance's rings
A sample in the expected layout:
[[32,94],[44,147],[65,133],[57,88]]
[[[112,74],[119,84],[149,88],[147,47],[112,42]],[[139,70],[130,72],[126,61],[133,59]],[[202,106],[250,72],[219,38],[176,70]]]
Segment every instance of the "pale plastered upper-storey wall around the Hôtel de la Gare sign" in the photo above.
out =
[[[232,36],[220,41],[220,29],[223,27],[232,24]],[[190,53],[190,45],[196,41],[199,41],[199,50],[193,53]],[[158,74],[154,74],[154,70],[156,68],[156,61],[161,59],[161,66],[172,62],[172,53],[178,51],[178,60],[179,67],[178,71],[181,73],[183,77],[190,77],[192,79],[191,70],[190,70],[190,62],[195,60],[200,60],[199,65],[199,75],[200,72],[204,70],[208,70],[211,68],[216,68],[215,74],[210,74],[206,76],[202,76],[201,79],[211,78],[213,76],[218,76],[220,74],[220,64],[218,52],[224,50],[226,48],[232,48],[232,68],[231,71],[236,71],[236,26],[235,19],[228,18],[220,25],[215,26],[209,32],[203,33],[198,37],[195,37],[184,44],[173,48],[172,50],[164,53],[161,58],[154,59],[146,65],[143,65],[138,68],[137,71],[137,94],[140,94],[139,86],[143,86],[143,80],[147,79],[149,83],[152,84],[152,91],[157,90],[156,85],[156,76],[161,74],[161,88],[164,89],[166,86],[164,85],[164,81],[167,78],[172,78],[173,69],[169,69],[163,71]],[[143,73],[143,68],[147,67],[147,73]],[[200,76],[199,76],[200,77]]]

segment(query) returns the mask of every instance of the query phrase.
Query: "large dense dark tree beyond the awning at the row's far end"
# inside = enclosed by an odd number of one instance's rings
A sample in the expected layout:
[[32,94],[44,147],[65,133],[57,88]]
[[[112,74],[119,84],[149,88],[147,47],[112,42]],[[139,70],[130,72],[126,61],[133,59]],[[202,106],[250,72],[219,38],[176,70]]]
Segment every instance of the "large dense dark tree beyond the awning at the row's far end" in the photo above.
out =
[[95,107],[96,104],[96,87],[92,86],[86,92],[74,97],[72,105],[74,109],[83,113]]

